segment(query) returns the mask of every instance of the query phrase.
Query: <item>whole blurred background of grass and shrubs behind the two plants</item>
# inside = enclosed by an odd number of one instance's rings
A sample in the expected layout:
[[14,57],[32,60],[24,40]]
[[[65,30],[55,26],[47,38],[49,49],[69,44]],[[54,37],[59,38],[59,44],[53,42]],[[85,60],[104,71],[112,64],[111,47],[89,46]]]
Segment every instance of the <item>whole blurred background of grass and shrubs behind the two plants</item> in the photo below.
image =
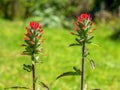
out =
[[80,77],[56,77],[73,66],[81,67],[80,47],[68,47],[75,41],[70,30],[81,13],[90,13],[96,28],[93,43],[97,45],[88,45],[96,69],[85,62],[87,90],[120,90],[120,0],[0,0],[0,90],[31,87],[31,73],[22,69],[24,63],[30,64],[30,58],[20,55],[30,21],[41,23],[46,39],[45,55],[40,55],[43,63],[36,65],[38,79],[50,90],[79,90]]

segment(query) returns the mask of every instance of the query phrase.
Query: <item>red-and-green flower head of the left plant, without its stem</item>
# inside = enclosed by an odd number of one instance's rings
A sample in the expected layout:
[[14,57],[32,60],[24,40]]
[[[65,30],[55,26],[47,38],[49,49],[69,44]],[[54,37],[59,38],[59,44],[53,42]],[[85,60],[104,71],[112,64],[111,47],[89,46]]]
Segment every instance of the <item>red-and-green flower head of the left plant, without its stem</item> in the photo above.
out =
[[40,39],[43,35],[43,29],[38,22],[30,22],[29,25],[29,27],[26,27],[27,33],[23,38],[25,44],[21,45],[26,47],[24,53],[26,55],[31,55],[33,52],[34,54],[38,53],[39,46],[41,45]]

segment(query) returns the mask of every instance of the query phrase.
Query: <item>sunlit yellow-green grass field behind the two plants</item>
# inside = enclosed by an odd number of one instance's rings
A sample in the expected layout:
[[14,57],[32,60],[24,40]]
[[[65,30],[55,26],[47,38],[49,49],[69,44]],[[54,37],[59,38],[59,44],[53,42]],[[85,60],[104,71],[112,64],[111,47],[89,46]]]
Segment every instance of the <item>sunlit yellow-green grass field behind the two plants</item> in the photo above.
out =
[[[24,50],[20,44],[23,42],[26,25],[27,22],[0,19],[0,90],[12,86],[31,87],[31,73],[22,69],[24,63],[30,63],[30,58],[20,55]],[[120,42],[109,39],[112,33],[109,24],[99,24],[94,27],[97,30],[94,32],[93,42],[99,46],[88,47],[96,69],[92,70],[89,61],[86,60],[85,86],[87,90],[92,88],[120,90]],[[50,90],[79,90],[79,76],[56,80],[59,74],[72,70],[73,66],[80,67],[81,49],[68,47],[74,42],[74,36],[63,28],[43,28],[46,39],[43,44],[45,55],[40,55],[43,63],[36,66],[38,79],[46,83]]]

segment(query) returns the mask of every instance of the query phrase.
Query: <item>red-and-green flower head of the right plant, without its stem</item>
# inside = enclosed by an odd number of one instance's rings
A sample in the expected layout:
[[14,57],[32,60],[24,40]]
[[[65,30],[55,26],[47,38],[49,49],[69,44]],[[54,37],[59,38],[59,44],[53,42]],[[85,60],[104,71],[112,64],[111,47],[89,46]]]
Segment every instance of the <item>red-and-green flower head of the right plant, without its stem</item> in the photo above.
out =
[[89,37],[92,32],[95,31],[95,28],[92,27],[92,17],[90,14],[83,13],[77,17],[77,21],[74,22],[75,33],[70,32],[72,35],[78,36],[80,38],[76,39],[77,42],[81,43],[81,41],[89,42]]

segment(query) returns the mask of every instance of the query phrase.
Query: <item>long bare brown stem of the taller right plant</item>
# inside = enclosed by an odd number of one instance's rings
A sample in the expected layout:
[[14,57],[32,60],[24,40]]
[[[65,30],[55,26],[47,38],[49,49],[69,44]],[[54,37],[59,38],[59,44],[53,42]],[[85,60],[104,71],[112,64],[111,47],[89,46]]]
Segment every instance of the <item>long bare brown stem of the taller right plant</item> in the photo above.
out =
[[82,74],[81,74],[81,90],[84,89],[84,54],[85,54],[85,41],[82,43]]

